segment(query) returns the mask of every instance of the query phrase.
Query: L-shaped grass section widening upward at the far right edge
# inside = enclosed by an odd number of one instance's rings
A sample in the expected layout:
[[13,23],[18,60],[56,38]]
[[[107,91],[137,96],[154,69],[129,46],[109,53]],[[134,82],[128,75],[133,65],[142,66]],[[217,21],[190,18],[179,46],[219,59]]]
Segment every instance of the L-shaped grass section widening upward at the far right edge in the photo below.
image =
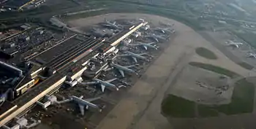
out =
[[253,110],[254,98],[254,85],[246,79],[241,79],[236,82],[231,103],[216,106],[214,109],[225,114],[249,113]]

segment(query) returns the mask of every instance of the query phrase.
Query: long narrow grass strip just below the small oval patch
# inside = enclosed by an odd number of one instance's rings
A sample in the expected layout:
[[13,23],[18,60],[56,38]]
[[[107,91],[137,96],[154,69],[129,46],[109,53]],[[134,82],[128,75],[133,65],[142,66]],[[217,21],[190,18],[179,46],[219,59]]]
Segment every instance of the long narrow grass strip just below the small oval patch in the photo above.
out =
[[224,69],[222,67],[213,66],[213,65],[207,64],[207,63],[190,62],[189,65],[196,66],[196,67],[199,67],[201,69],[206,69],[206,70],[209,70],[209,71],[214,71],[214,72],[219,73],[219,74],[224,74],[224,75],[226,75],[228,77],[232,77],[232,78],[238,77],[238,74],[236,74],[233,71],[229,71],[229,70]]

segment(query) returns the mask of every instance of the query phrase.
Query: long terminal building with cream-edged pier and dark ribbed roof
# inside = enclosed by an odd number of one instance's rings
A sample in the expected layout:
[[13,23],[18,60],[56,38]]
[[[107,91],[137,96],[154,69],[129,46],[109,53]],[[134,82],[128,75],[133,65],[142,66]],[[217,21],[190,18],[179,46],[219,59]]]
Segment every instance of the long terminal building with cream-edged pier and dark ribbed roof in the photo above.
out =
[[[15,87],[15,93],[20,97],[8,102],[9,109],[1,109],[0,127],[13,118],[26,114],[37,101],[45,95],[53,94],[62,84],[76,85],[86,69],[98,65],[99,69],[95,69],[91,77],[97,76],[101,69],[108,65],[105,61],[100,63],[99,60],[103,59],[101,57],[117,52],[118,44],[123,39],[146,24],[142,22],[128,26],[106,40],[74,34],[56,46],[26,58],[31,69],[29,74],[23,77],[23,81]],[[111,58],[114,58],[114,55]]]

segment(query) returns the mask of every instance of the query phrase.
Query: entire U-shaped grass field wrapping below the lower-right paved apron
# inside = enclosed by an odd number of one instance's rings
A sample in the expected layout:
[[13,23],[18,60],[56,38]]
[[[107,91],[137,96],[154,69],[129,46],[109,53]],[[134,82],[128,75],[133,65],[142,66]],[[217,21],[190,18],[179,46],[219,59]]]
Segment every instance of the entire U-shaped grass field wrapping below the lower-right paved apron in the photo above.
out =
[[254,85],[246,79],[241,79],[236,82],[231,103],[208,106],[175,95],[168,95],[162,101],[162,113],[169,117],[195,117],[195,104],[197,104],[199,117],[217,117],[219,113],[227,115],[249,113],[253,111],[254,97]]

